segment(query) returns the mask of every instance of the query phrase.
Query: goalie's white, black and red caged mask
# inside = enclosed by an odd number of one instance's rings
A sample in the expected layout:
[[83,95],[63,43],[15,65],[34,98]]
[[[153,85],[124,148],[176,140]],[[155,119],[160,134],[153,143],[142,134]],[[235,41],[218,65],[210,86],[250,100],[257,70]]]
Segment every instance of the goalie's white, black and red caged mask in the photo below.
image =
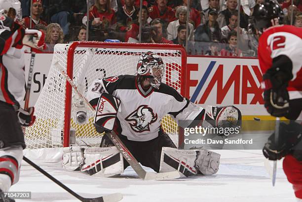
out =
[[159,89],[164,74],[165,65],[162,59],[153,52],[143,53],[137,64],[137,74],[146,76],[151,86]]

